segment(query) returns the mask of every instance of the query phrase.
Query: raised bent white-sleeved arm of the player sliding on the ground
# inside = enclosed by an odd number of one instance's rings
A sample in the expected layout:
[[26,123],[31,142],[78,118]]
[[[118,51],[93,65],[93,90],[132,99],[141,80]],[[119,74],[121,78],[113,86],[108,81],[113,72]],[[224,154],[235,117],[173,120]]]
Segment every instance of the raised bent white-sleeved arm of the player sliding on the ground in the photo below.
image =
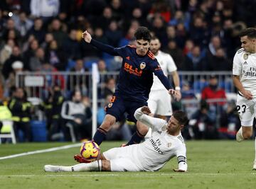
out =
[[152,130],[161,131],[161,128],[166,125],[166,121],[159,118],[152,118],[149,115],[142,113],[142,108],[138,108],[134,113],[136,120],[151,127]]

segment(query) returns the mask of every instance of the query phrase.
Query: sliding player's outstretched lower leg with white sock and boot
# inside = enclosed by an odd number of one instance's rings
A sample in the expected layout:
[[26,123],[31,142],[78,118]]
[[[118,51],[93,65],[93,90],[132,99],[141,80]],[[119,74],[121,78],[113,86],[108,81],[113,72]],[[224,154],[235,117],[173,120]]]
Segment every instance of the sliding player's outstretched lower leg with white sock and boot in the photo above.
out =
[[111,171],[110,161],[97,160],[89,164],[76,164],[74,166],[44,166],[46,172],[82,172],[82,171]]

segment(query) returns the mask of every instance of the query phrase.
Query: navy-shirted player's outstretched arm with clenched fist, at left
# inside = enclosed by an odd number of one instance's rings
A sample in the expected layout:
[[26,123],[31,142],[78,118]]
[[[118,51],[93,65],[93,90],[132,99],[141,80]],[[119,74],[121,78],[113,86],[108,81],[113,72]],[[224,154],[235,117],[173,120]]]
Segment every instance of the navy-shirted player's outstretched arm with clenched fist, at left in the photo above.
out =
[[92,39],[92,36],[90,33],[85,31],[82,33],[82,38],[85,40],[85,42],[88,42],[92,44],[93,46],[97,47],[97,49],[102,50],[104,52],[107,52],[108,54],[112,56],[118,56],[119,54],[114,50],[114,47],[110,45],[105,45],[102,42],[98,42],[97,40]]

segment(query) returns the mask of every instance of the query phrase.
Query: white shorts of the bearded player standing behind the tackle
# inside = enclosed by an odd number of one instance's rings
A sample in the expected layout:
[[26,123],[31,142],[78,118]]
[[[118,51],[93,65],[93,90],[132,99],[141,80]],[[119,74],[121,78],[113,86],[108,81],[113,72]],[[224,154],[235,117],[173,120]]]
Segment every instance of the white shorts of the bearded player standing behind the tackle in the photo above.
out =
[[167,90],[150,91],[147,102],[151,113],[165,116],[172,115],[171,95]]

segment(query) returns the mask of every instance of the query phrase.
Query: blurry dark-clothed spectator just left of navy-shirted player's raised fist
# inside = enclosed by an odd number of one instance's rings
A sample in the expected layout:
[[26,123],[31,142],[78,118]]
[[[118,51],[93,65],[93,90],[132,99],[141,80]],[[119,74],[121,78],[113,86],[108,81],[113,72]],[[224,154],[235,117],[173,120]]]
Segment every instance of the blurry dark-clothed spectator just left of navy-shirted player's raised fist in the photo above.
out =
[[68,38],[63,41],[63,52],[68,59],[81,57],[80,43],[77,40],[78,31],[71,29]]

